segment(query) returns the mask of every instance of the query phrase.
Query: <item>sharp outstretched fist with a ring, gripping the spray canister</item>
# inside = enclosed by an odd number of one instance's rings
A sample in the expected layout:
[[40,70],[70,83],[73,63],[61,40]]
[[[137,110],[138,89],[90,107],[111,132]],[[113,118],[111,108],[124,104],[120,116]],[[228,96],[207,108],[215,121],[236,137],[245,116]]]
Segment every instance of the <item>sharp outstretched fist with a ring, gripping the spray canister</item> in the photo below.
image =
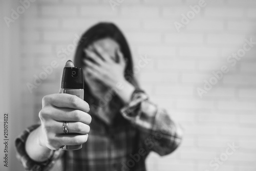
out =
[[[92,121],[88,114],[89,104],[75,95],[51,94],[42,99],[39,112],[41,132],[39,144],[50,149],[62,145],[77,145],[87,141]],[[68,134],[64,134],[62,124],[68,121]]]

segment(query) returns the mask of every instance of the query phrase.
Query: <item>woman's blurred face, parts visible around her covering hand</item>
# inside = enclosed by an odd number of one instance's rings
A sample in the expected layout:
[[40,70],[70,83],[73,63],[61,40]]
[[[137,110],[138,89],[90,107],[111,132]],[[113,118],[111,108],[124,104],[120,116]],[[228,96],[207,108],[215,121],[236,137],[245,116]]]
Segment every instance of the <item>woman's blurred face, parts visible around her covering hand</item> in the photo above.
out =
[[[99,39],[97,41],[94,41],[92,45],[89,45],[88,48],[94,49],[94,46],[100,46],[106,53],[111,56],[112,60],[116,61],[116,52],[118,49],[120,49],[120,46],[115,40],[111,38]],[[101,81],[94,78],[90,73],[84,71],[83,76],[84,80],[86,81],[91,90],[91,93],[94,96],[102,96],[108,91],[108,87],[106,87]]]

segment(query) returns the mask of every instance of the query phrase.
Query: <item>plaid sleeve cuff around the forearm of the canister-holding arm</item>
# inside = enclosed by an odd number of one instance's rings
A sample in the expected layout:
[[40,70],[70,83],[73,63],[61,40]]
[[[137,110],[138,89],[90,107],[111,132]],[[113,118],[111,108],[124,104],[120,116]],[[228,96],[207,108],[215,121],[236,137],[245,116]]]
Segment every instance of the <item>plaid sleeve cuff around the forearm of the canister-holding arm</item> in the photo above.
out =
[[51,155],[49,159],[45,162],[36,162],[32,160],[25,150],[25,142],[29,136],[29,134],[37,129],[40,124],[35,124],[28,127],[25,131],[22,132],[16,139],[15,139],[15,147],[16,147],[16,158],[22,163],[26,170],[50,170],[55,163],[55,161],[60,158],[63,154],[61,149],[57,149],[55,151],[51,151]]

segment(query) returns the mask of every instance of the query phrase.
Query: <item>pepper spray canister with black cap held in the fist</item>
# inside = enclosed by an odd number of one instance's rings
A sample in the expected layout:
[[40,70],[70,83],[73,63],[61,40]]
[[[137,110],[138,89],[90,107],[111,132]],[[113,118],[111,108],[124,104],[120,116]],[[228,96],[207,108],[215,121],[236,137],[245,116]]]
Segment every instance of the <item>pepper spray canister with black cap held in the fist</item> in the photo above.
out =
[[[61,79],[61,90],[60,93],[67,93],[75,95],[83,99],[83,74],[81,68],[70,67],[74,66],[73,62],[68,65],[71,60],[67,61],[65,68],[63,69],[62,79]],[[68,66],[68,67],[67,67]],[[61,147],[65,150],[76,150],[82,148],[82,144],[78,145],[63,145]]]

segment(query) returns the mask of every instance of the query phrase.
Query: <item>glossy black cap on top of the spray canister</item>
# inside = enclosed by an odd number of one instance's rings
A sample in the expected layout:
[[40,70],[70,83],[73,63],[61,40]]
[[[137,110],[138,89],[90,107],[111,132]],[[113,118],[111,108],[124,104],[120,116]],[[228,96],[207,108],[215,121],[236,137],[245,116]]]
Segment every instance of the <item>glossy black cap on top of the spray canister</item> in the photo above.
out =
[[65,67],[63,69],[62,89],[83,89],[83,74],[81,68]]

